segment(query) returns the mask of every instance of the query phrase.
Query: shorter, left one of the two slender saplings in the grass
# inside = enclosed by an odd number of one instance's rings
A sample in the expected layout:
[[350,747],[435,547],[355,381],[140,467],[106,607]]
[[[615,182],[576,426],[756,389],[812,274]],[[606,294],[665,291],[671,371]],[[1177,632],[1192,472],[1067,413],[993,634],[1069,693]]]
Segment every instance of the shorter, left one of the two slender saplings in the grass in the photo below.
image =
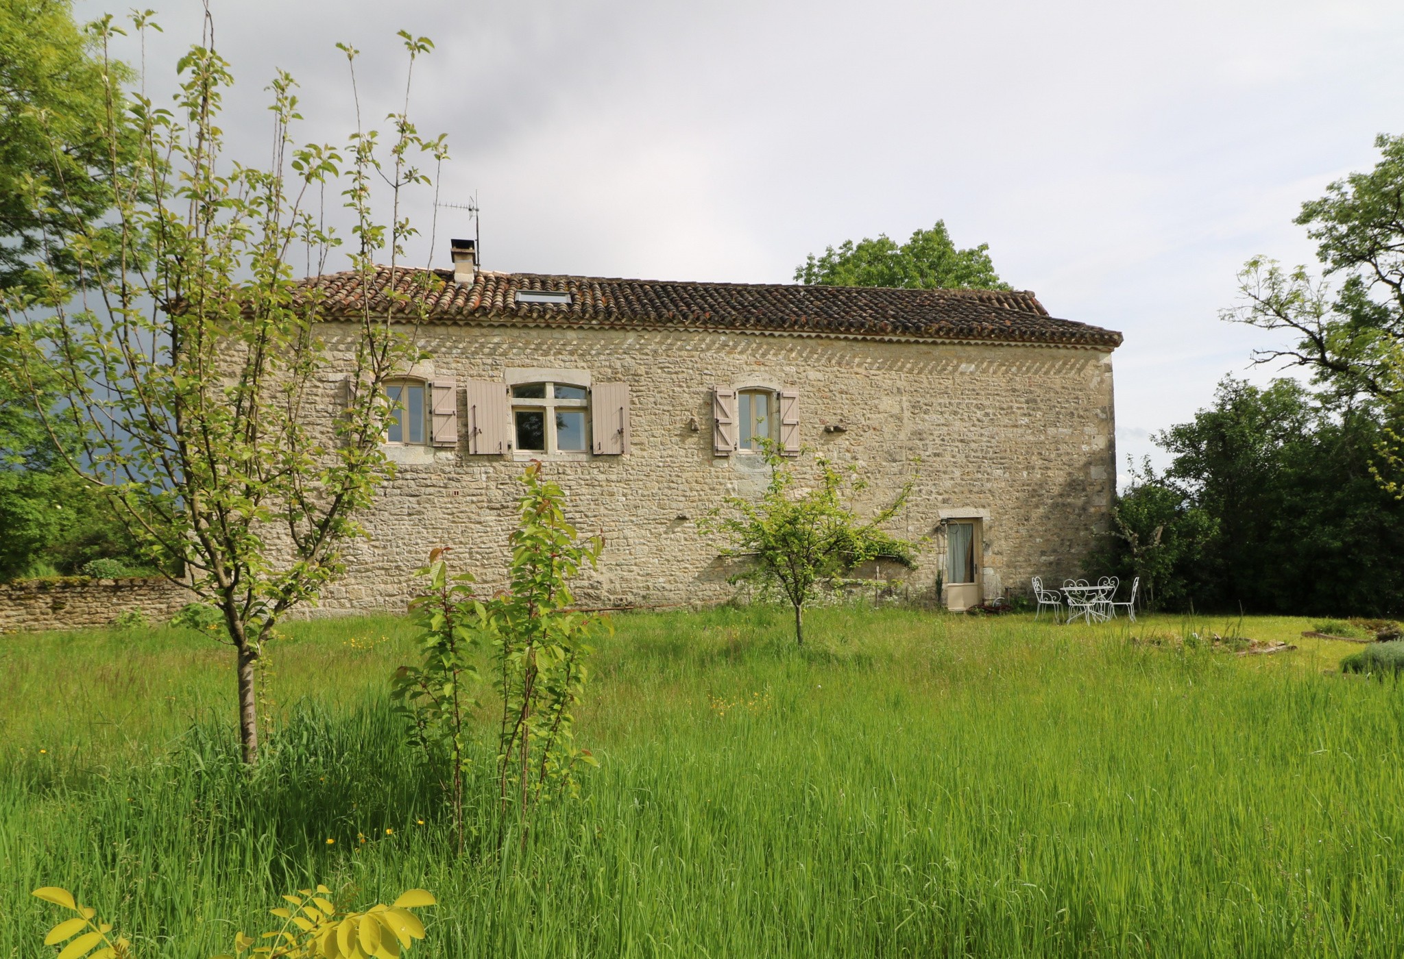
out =
[[430,564],[417,571],[427,592],[410,603],[418,624],[423,662],[400,666],[392,693],[396,711],[410,721],[414,744],[441,773],[441,785],[453,816],[453,837],[463,852],[463,788],[468,775],[468,739],[479,684],[473,662],[483,635],[490,631],[487,607],[473,597],[473,576],[452,573],[449,547],[430,552]]

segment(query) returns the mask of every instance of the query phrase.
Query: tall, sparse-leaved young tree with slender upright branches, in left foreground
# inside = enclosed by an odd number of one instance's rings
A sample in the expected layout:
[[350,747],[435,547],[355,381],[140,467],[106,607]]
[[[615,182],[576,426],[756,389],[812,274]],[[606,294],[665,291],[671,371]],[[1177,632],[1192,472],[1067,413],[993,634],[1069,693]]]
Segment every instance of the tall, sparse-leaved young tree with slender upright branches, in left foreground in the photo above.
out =
[[[111,227],[31,184],[29,202],[58,206],[39,229],[38,282],[4,300],[22,360],[17,380],[67,467],[112,496],[145,555],[164,569],[183,566],[220,610],[236,656],[243,757],[254,763],[254,666],[279,618],[316,599],[362,531],[357,513],[388,472],[382,381],[417,356],[413,332],[402,331],[421,315],[418,299],[380,300],[383,310],[372,313],[372,297],[361,297],[341,415],[330,432],[310,428],[330,397],[314,376],[320,304],[293,279],[293,264],[323,272],[338,243],[317,209],[343,174],[341,154],[293,144],[295,83],[279,73],[271,164],[227,161],[218,118],[232,77],[206,20],[205,41],[177,67],[174,109],[129,94],[140,149],[124,161],[119,76],[107,53],[115,32],[111,18],[95,25],[108,91],[100,206],[111,210]],[[413,72],[431,43],[402,36]],[[354,64],[355,50],[343,49]],[[34,119],[51,130],[42,115]],[[345,163],[358,241],[351,262],[366,286],[372,258],[386,254],[393,269],[414,233],[399,206],[407,186],[428,179],[414,157],[444,157],[442,139],[421,137],[404,109],[390,122],[388,160],[376,133],[358,130]],[[59,135],[49,137],[58,149]],[[371,217],[372,178],[389,184],[388,226]],[[53,265],[60,250],[73,271]],[[59,404],[44,393],[51,383]]]

